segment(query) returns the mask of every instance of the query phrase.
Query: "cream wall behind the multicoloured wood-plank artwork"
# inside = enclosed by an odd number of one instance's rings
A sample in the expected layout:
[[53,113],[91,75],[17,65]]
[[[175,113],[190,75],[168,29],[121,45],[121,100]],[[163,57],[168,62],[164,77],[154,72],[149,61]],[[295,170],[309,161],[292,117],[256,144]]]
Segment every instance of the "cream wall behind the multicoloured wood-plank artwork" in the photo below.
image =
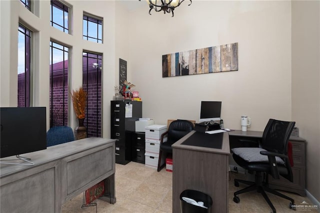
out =
[[[199,119],[201,100],[221,100],[225,127],[263,130],[269,118],[291,119],[291,2],[188,1],[175,16],[132,11],[130,80],[142,114],[156,123]],[[238,71],[162,78],[162,55],[238,42]]]

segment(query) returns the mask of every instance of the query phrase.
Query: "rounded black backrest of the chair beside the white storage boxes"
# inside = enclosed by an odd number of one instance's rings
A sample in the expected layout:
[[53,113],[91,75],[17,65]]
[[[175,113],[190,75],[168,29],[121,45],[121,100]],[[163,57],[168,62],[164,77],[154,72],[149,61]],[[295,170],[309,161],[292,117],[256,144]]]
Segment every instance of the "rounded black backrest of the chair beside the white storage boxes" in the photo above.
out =
[[168,127],[167,139],[170,142],[175,142],[192,130],[192,122],[188,120],[173,120]]

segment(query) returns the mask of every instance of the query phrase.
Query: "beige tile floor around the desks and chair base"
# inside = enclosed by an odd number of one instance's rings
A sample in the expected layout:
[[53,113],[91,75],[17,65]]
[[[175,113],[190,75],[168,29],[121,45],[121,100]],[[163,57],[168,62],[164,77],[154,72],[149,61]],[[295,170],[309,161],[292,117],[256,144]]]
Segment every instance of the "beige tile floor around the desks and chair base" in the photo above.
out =
[[[230,172],[229,180],[229,212],[271,212],[262,195],[256,192],[240,194],[240,202],[233,202],[233,192],[237,188],[233,185],[233,179],[244,179],[243,174]],[[282,193],[292,197],[295,204],[306,201],[312,204],[307,197],[294,193]],[[288,208],[289,201],[273,194],[267,193],[278,213],[293,213]],[[126,165],[115,164],[115,195],[116,203],[110,204],[97,199],[97,212],[172,212],[172,173],[163,168],[160,172],[156,169],[146,167],[144,164],[129,162]],[[62,205],[62,212],[95,212],[95,206],[83,207],[82,193]],[[320,209],[318,209],[320,210]],[[297,212],[296,210],[295,212]],[[309,211],[309,209],[308,209]],[[309,211],[310,212],[310,211]],[[318,212],[313,210],[311,212]]]

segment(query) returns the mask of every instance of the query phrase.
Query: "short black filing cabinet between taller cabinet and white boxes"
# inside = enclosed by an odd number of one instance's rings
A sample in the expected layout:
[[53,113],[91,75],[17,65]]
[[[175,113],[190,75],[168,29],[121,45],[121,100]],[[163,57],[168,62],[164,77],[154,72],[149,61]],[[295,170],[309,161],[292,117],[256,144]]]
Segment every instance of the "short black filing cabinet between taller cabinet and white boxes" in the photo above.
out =
[[132,161],[144,163],[145,134],[144,132],[132,133]]

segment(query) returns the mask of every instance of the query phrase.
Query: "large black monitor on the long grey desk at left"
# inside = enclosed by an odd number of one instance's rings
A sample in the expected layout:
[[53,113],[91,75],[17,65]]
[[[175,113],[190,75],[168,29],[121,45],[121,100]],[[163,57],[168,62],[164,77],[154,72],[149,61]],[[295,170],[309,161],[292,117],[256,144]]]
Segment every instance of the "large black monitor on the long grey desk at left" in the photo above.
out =
[[0,158],[45,148],[45,107],[0,107]]

